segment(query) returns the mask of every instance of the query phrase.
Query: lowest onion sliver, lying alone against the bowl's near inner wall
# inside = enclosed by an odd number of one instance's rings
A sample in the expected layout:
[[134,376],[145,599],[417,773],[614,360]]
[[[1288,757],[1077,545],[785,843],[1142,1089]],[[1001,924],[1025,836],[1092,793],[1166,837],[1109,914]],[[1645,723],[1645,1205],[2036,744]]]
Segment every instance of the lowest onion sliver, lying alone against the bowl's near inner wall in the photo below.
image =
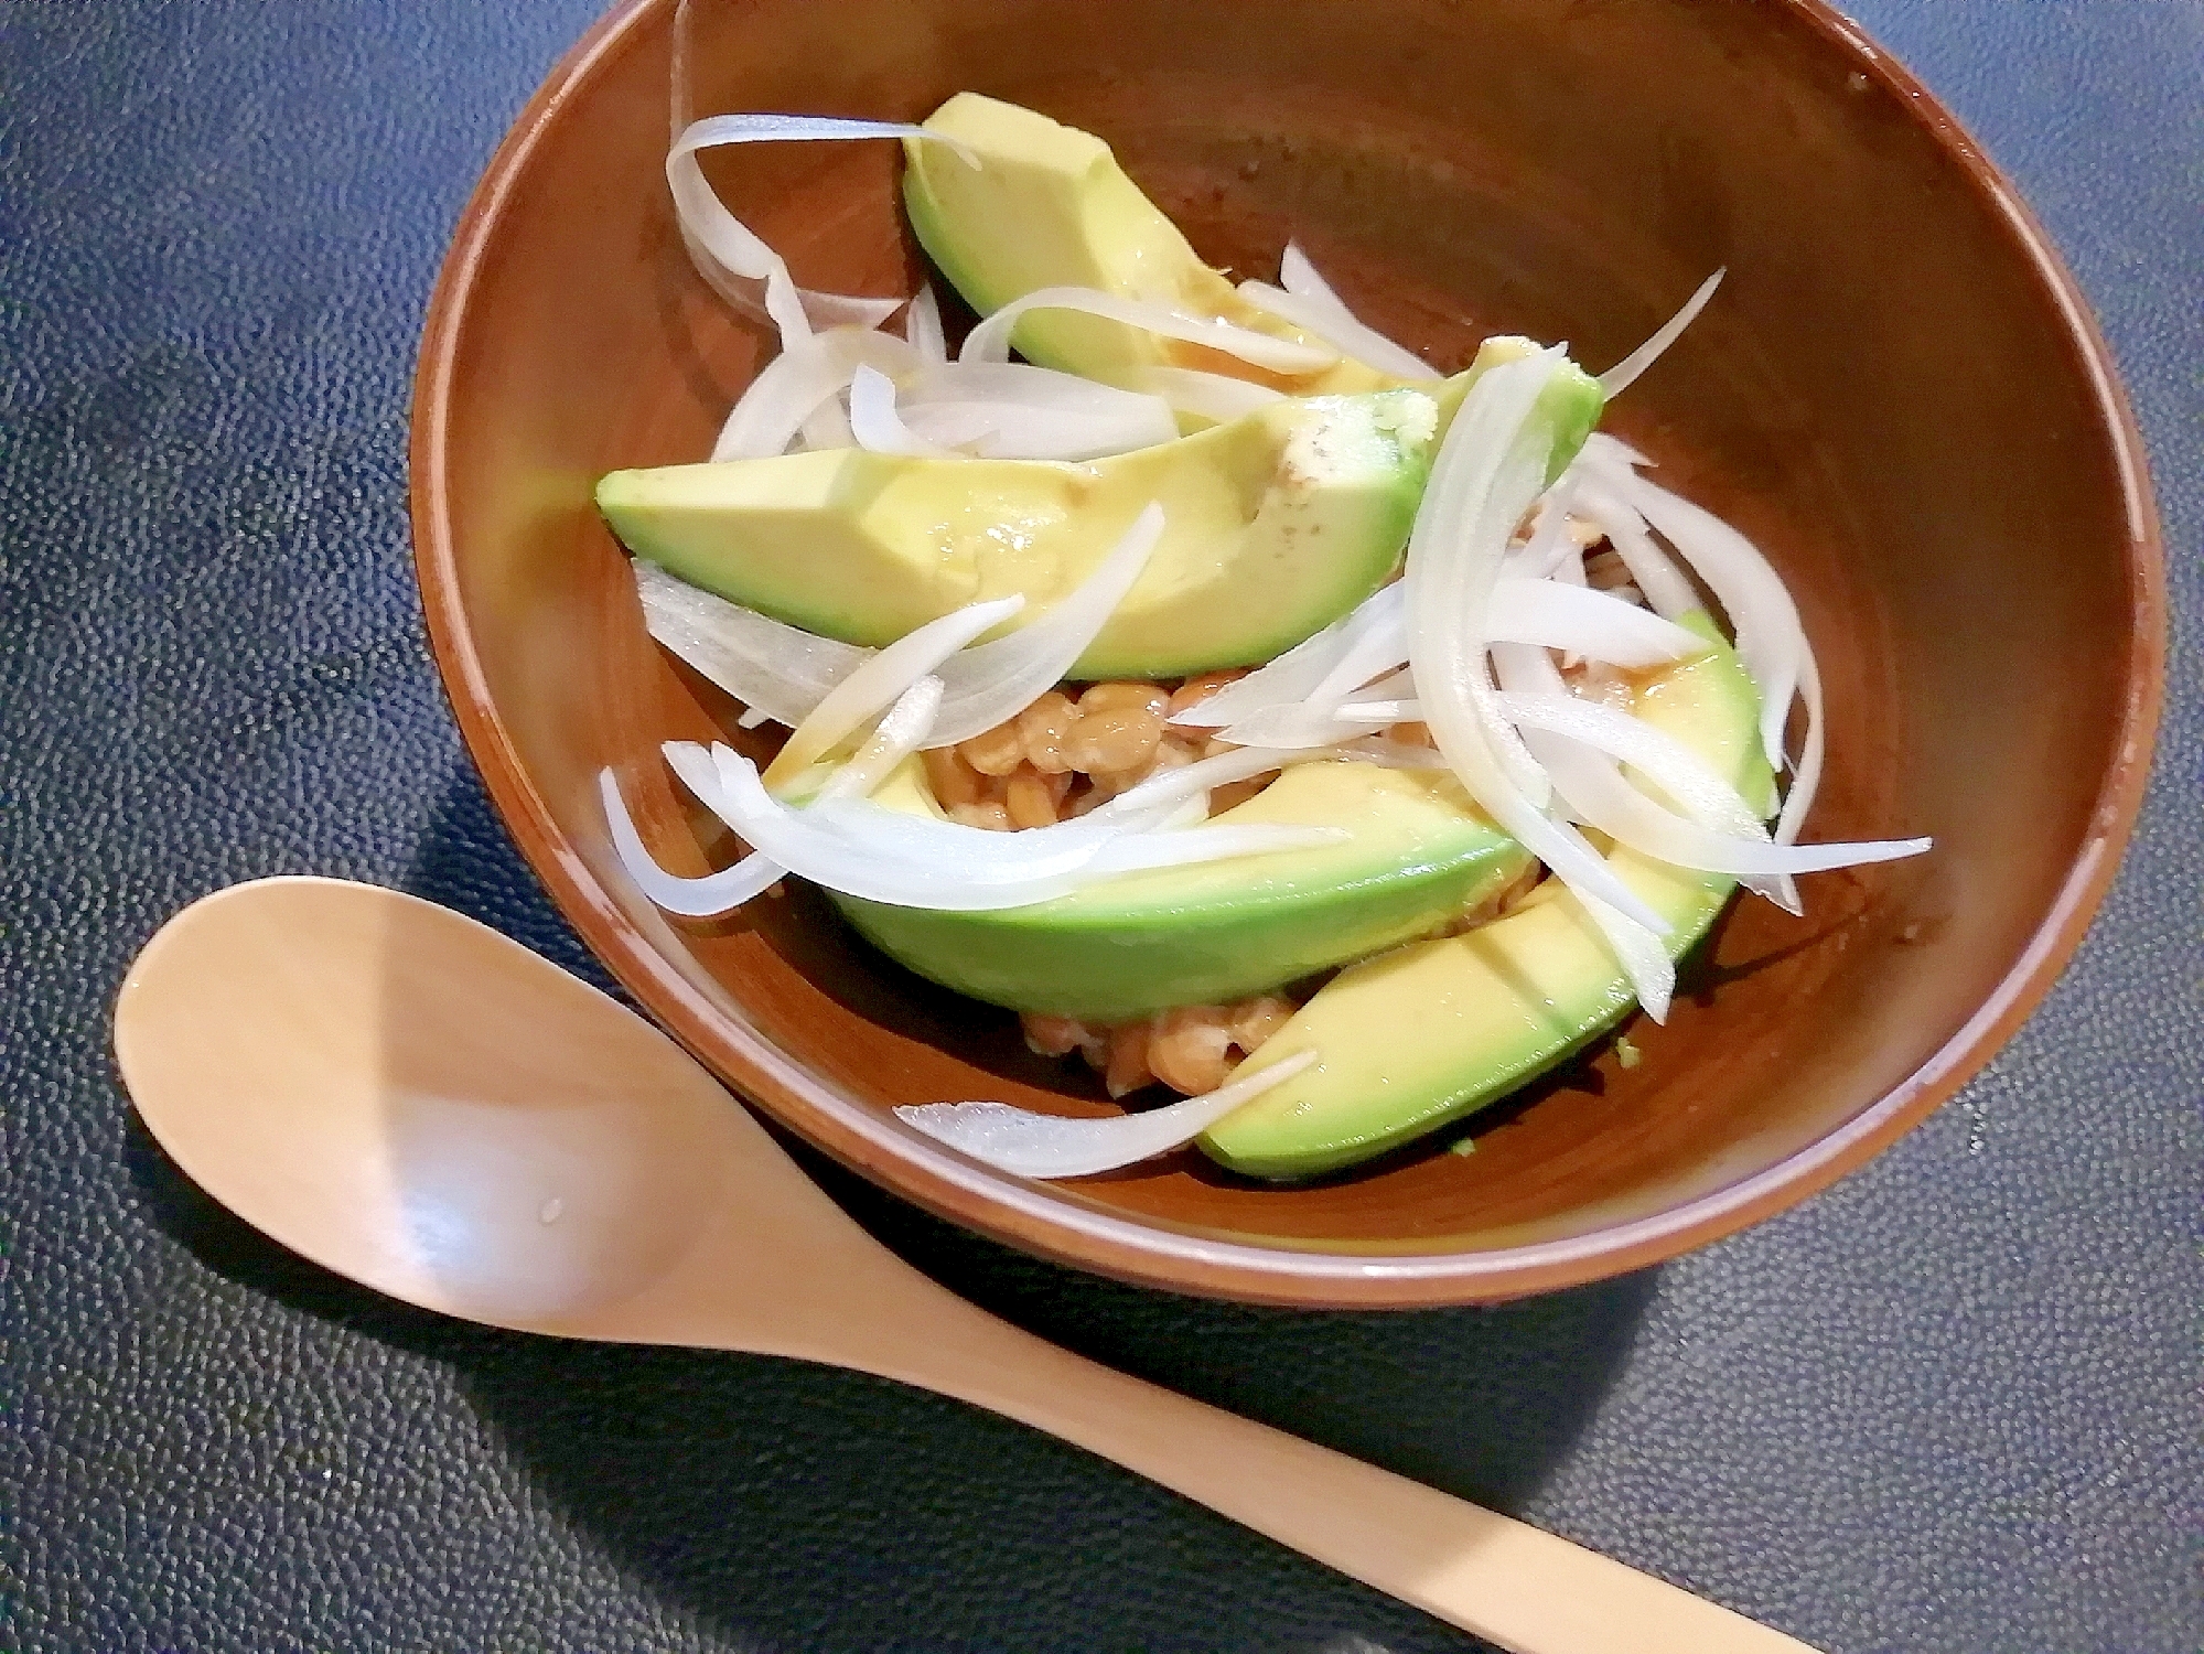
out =
[[1076,1120],[1009,1103],[906,1103],[895,1116],[996,1171],[1018,1178],[1089,1178],[1192,1142],[1232,1109],[1300,1074],[1316,1056],[1294,1052],[1206,1096],[1139,1114]]

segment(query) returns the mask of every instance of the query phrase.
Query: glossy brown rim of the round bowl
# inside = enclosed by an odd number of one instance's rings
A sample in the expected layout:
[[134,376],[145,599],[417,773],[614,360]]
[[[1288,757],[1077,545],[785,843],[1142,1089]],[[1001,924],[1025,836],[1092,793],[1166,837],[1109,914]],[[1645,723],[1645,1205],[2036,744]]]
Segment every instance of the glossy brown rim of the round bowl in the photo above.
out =
[[430,646],[467,752],[522,856],[588,948],[707,1070],[811,1145],[965,1228],[1139,1286],[1296,1308],[1494,1303],[1622,1275],[1730,1235],[1836,1182],[1951,1098],[2050,992],[2111,884],[2151,776],[2164,692],[2167,571],[2142,432],[2096,318],[2043,225],[1966,128],[1862,29],[1825,0],[1781,0],[1856,75],[1878,82],[2003,218],[2012,249],[2059,309],[2089,379],[2096,423],[2118,465],[2127,514],[2129,670],[2116,761],[2098,787],[2092,834],[2014,964],[1975,1014],[1913,1074],[1836,1131],[1735,1184],[1671,1211],[1558,1242],[1479,1253],[1362,1255],[1203,1237],[1067,1200],[1047,1184],[990,1171],[897,1120],[835,1096],[763,1037],[732,1025],[591,873],[522,772],[458,600],[450,512],[450,399],[469,300],[514,181],[544,132],[672,0],[622,0],[553,66],[500,141],[458,221],[423,324],[414,377],[410,514]]

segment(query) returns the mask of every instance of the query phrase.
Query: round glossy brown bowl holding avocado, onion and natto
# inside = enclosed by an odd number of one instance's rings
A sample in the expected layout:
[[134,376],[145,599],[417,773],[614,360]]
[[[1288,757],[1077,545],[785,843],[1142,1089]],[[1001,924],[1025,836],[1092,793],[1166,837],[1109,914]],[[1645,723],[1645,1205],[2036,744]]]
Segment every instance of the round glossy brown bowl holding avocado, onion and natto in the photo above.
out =
[[[1732,909],[1642,1061],[1578,1063],[1322,1186],[1195,1153],[1031,1184],[895,1103],[1100,1109],[1016,1019],[921,984],[802,889],[659,915],[606,842],[615,765],[661,860],[732,847],[657,748],[725,701],[644,635],[591,509],[690,461],[760,333],[690,271],[666,201],[672,0],[630,0],[498,150],[421,355],[412,514],[430,635],[489,792],[553,900],[743,1096],[875,1182],[1131,1281],[1300,1306],[1505,1299],[1774,1213],[1951,1096],[2074,950],[2158,712],[2162,551],[2087,307],[2012,187],[1834,11],[1545,0],[747,0],[690,20],[692,108],[917,119],[972,88],[1109,137],[1219,265],[1298,236],[1439,364],[1485,331],[1605,366],[1717,265],[1721,298],[1616,408],[1664,476],[1783,567],[1829,684],[1816,838],[1935,834]],[[895,146],[714,157],[723,194],[838,291],[908,293]]]

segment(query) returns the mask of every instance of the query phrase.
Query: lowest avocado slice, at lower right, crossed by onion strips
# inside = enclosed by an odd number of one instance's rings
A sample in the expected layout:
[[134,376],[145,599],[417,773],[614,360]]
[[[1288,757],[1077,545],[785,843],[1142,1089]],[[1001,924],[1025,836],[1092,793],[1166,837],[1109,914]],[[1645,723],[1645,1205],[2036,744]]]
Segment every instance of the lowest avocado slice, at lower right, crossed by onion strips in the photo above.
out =
[[[1752,679],[1704,615],[1684,624],[1717,646],[1666,668],[1633,710],[1690,743],[1765,814],[1774,785]],[[1607,860],[1675,926],[1677,957],[1706,935],[1735,884],[1627,849]],[[1320,1059],[1212,1127],[1201,1149],[1250,1178],[1338,1171],[1514,1092],[1631,1006],[1589,915],[1547,882],[1492,924],[1364,959],[1325,984],[1247,1067],[1311,1048]]]

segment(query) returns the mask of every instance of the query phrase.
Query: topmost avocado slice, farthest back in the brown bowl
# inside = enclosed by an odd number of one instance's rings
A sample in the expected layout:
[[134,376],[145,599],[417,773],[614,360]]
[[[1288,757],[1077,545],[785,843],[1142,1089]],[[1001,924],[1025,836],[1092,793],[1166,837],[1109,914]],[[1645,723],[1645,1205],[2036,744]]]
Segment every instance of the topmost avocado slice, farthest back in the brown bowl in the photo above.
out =
[[[904,207],[919,245],[981,315],[1040,287],[1100,287],[1296,344],[1329,344],[1243,300],[1091,132],[979,93],[959,93],[926,128],[957,139],[979,157],[979,168],[950,143],[904,139]],[[1106,384],[1126,384],[1137,368],[1179,366],[1292,395],[1430,386],[1351,357],[1307,375],[1267,373],[1199,344],[1071,311],[1023,318],[1012,342],[1027,362]]]

